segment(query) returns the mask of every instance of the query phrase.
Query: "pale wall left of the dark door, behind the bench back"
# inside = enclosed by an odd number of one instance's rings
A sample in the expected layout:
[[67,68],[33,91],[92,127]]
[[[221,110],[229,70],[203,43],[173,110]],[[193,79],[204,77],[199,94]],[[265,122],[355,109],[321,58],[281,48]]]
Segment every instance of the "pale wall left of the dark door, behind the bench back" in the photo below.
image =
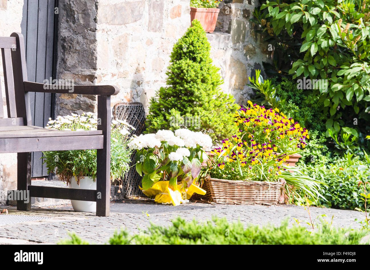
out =
[[[0,0],[0,37],[9,37],[13,32],[21,32],[23,0]],[[3,63],[0,60],[0,83],[4,112],[6,99],[4,88]],[[0,154],[0,205],[5,204],[7,191],[17,188],[17,154]]]

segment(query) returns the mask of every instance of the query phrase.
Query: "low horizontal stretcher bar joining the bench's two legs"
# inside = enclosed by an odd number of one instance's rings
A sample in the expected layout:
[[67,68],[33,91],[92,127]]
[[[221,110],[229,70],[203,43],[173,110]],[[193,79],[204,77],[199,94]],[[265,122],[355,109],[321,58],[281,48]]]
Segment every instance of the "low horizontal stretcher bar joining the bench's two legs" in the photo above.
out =
[[29,185],[28,190],[30,191],[31,197],[70,199],[90,202],[96,202],[97,200],[95,189],[57,188]]

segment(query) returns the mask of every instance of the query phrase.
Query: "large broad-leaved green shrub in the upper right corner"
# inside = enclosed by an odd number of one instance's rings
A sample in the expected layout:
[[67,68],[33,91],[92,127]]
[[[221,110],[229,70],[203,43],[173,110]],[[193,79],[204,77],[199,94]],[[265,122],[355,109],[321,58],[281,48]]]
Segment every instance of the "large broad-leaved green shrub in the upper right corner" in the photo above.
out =
[[266,1],[252,19],[275,46],[270,74],[328,80],[327,89],[312,92],[333,132],[344,126],[370,130],[369,7],[369,0]]

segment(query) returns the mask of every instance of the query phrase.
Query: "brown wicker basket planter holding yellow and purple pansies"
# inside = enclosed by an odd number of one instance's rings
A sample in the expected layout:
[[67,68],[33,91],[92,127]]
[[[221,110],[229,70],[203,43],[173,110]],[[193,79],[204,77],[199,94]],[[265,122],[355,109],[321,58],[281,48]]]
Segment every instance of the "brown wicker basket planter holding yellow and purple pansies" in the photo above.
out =
[[282,182],[233,181],[216,178],[204,180],[207,191],[203,200],[217,204],[277,204]]

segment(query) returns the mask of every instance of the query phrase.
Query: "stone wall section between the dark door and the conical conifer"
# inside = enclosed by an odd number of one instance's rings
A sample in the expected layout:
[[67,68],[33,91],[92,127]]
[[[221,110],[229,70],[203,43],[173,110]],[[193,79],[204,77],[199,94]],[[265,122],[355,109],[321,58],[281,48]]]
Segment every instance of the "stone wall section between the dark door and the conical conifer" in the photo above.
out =
[[[172,46],[190,26],[189,0],[61,0],[57,76],[113,84],[145,106],[165,84]],[[56,115],[96,111],[95,96],[59,95]]]

